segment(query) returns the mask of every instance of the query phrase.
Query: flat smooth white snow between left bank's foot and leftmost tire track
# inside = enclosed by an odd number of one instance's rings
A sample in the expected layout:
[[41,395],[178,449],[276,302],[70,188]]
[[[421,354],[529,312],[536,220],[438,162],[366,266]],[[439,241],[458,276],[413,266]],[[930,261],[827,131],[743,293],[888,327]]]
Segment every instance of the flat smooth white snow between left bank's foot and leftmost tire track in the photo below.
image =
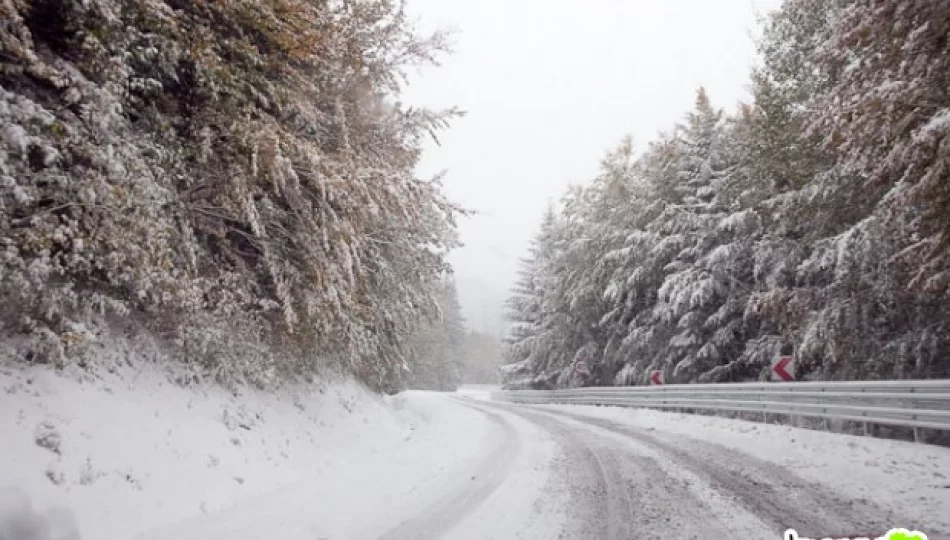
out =
[[[318,457],[326,466],[222,512],[150,531],[141,540],[377,539],[457,491],[493,439],[485,416],[429,392],[386,400],[407,425],[398,441],[370,431]],[[372,426],[367,426],[371,428]]]

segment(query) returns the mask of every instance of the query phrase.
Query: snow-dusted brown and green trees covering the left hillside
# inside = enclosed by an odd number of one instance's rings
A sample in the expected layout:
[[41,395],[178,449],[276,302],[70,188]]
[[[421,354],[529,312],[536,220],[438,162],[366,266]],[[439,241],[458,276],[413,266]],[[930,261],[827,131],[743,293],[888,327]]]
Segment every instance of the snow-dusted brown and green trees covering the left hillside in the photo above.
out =
[[403,384],[456,243],[413,174],[456,113],[398,101],[441,35],[390,0],[2,0],[0,21],[0,332],[25,356],[82,361],[111,317],[219,381]]

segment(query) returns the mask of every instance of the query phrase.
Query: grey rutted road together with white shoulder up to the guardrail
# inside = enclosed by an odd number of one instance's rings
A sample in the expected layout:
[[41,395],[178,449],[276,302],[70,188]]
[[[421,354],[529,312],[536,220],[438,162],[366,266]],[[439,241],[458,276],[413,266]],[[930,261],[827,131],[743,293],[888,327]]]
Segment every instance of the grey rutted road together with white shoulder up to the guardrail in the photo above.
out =
[[[556,457],[539,497],[561,509],[561,538],[778,539],[787,528],[811,537],[873,537],[894,527],[950,538],[946,449],[653,411],[487,401],[477,408],[511,425],[527,421],[554,439]],[[644,425],[637,420],[644,413],[660,422]],[[676,424],[693,424],[694,433],[664,429]],[[769,459],[741,436],[703,437],[733,428],[738,435],[756,428],[759,438],[789,444]],[[518,435],[531,444],[529,434]],[[822,444],[826,463],[796,450]],[[825,464],[836,470],[815,474]],[[882,478],[885,489],[876,489]],[[462,522],[446,537],[486,537],[476,531]],[[498,538],[552,538],[547,534],[511,523]],[[427,536],[402,538],[410,537]]]

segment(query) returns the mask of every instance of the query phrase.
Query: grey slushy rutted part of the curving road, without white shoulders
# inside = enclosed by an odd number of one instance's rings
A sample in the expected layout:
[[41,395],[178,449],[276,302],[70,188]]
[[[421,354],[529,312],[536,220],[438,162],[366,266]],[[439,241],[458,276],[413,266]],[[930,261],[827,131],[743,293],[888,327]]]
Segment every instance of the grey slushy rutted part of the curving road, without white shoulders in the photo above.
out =
[[466,401],[501,414],[502,422],[520,417],[556,439],[561,457],[546,491],[569,501],[562,538],[779,539],[789,527],[824,537],[881,534],[901,522],[888,509],[706,441],[563,410]]

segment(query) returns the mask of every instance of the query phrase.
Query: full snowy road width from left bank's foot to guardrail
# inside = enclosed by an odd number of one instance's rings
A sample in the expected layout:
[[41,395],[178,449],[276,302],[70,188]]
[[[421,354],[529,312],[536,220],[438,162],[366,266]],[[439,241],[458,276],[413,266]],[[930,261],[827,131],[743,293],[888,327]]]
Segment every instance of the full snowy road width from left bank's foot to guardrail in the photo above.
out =
[[[950,486],[910,498],[896,495],[909,482],[897,463],[888,463],[895,476],[893,491],[877,492],[870,484],[879,481],[871,474],[880,473],[878,462],[865,460],[851,469],[839,463],[844,469],[821,481],[803,474],[810,470],[806,463],[797,467],[763,459],[741,445],[704,440],[701,432],[691,436],[663,429],[662,424],[624,422],[623,414],[631,411],[529,407],[471,395],[423,393],[407,396],[406,406],[438,411],[441,418],[431,417],[434,423],[417,441],[381,456],[394,467],[403,464],[401,481],[394,481],[397,471],[371,462],[353,466],[376,476],[375,484],[370,478],[354,478],[340,490],[333,488],[332,479],[322,479],[324,486],[340,493],[336,511],[348,516],[342,527],[328,527],[325,511],[308,511],[311,505],[327,504],[330,493],[304,485],[292,497],[285,493],[276,500],[247,501],[224,515],[187,522],[162,538],[779,539],[790,527],[805,536],[839,537],[877,536],[896,526],[923,530],[931,539],[950,538]],[[702,421],[663,416],[686,424]],[[718,428],[727,432],[729,423],[746,424],[719,422],[725,425]],[[891,460],[891,450],[897,447],[921,460],[911,466],[923,477],[942,478],[941,471],[950,464],[948,452],[935,447],[777,426],[745,427],[756,427],[758,437],[775,437],[774,429],[810,444],[824,442],[816,436],[827,439],[836,444],[826,453],[832,463],[849,451]],[[794,444],[786,454],[797,455]],[[455,459],[440,461],[439,455]],[[430,474],[415,476],[421,465]],[[868,473],[868,490],[860,489],[862,473]],[[837,482],[844,475],[857,475],[858,480]],[[400,492],[400,486],[408,489]],[[387,494],[385,501],[381,494]],[[925,500],[928,496],[933,500]],[[283,511],[275,513],[275,508]],[[298,534],[305,531],[308,534]]]

